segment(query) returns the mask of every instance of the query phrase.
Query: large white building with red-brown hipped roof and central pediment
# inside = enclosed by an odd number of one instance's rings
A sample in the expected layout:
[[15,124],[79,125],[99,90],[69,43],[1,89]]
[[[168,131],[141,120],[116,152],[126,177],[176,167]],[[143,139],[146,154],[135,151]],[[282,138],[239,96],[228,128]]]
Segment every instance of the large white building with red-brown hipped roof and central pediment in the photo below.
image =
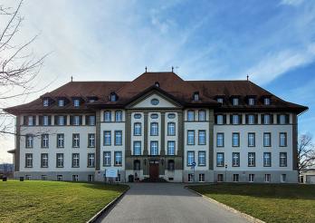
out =
[[[14,175],[26,179],[297,182],[298,118],[250,81],[68,82],[7,108],[16,116]],[[196,164],[195,168],[193,167]]]

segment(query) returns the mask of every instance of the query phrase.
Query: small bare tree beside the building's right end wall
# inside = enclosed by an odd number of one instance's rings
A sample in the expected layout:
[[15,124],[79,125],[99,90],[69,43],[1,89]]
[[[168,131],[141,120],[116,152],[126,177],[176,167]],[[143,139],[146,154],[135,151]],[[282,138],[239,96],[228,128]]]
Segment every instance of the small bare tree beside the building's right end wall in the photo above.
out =
[[310,135],[303,134],[298,142],[299,173],[301,170],[315,166],[315,146]]

